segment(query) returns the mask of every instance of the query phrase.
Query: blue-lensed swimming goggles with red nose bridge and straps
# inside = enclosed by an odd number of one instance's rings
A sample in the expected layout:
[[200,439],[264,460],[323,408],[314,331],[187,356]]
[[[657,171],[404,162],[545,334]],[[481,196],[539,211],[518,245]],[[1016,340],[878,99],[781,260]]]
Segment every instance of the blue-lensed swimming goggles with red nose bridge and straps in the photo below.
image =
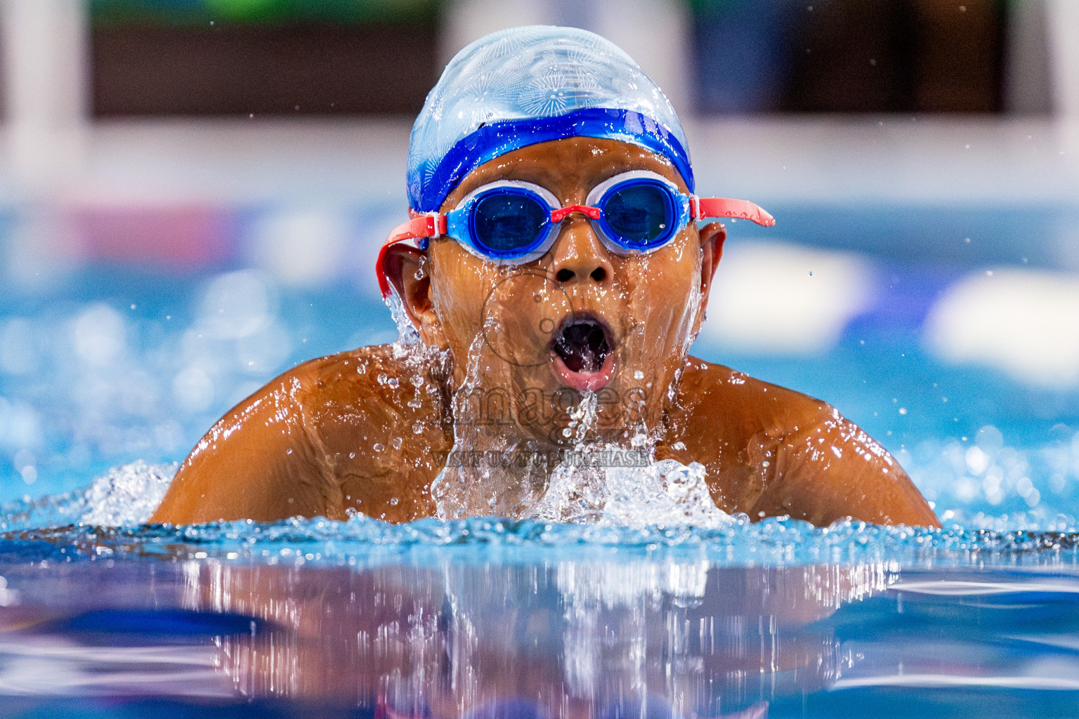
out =
[[726,217],[764,226],[776,223],[753,203],[687,195],[648,170],[615,175],[596,185],[585,203],[563,207],[550,191],[520,180],[498,180],[477,188],[449,212],[413,218],[390,233],[377,263],[382,295],[390,295],[385,264],[388,248],[397,243],[412,241],[426,250],[431,239],[445,235],[483,260],[524,264],[551,248],[562,221],[574,212],[591,220],[600,240],[617,254],[655,251],[691,220]]

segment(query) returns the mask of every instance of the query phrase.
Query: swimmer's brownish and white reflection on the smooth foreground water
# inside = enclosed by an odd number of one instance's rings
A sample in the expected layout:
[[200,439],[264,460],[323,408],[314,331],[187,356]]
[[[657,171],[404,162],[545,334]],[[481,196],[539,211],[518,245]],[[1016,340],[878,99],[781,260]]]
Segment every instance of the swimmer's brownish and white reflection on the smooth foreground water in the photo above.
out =
[[384,696],[398,711],[447,717],[520,697],[551,717],[661,697],[680,715],[711,716],[768,699],[780,675],[800,690],[835,679],[830,633],[809,625],[888,577],[879,566],[707,563],[218,565],[188,570],[186,603],[287,627],[221,640],[245,695]]

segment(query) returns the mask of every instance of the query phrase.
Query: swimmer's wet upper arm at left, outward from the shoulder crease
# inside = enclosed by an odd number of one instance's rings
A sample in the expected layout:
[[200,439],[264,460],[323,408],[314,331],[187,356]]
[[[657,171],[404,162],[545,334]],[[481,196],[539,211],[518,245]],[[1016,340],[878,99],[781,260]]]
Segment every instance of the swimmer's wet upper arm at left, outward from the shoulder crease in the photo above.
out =
[[180,466],[151,522],[191,524],[326,514],[322,458],[285,377],[224,415]]

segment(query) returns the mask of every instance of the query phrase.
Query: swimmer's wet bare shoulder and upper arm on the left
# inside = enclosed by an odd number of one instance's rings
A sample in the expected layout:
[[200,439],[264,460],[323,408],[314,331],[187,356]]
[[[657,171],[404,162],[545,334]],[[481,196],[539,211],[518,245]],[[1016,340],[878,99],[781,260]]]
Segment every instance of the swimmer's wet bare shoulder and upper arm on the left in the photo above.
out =
[[[424,393],[429,401],[416,401]],[[410,373],[391,346],[310,360],[269,382],[206,432],[152,518],[343,517],[360,501],[367,503],[361,511],[384,497],[388,503],[406,458],[415,464],[413,455],[422,455],[425,443],[445,435],[439,407],[437,383]],[[407,446],[401,437],[409,438]],[[400,510],[390,504],[386,516],[420,513],[424,502],[418,494]]]

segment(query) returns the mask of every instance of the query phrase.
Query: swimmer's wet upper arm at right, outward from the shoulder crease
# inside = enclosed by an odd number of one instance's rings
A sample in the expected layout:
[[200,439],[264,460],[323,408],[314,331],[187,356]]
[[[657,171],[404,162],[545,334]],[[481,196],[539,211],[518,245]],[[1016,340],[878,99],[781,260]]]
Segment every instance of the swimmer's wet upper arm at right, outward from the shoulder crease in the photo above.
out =
[[834,410],[779,442],[776,473],[757,503],[815,525],[851,516],[874,524],[939,527],[899,462]]

